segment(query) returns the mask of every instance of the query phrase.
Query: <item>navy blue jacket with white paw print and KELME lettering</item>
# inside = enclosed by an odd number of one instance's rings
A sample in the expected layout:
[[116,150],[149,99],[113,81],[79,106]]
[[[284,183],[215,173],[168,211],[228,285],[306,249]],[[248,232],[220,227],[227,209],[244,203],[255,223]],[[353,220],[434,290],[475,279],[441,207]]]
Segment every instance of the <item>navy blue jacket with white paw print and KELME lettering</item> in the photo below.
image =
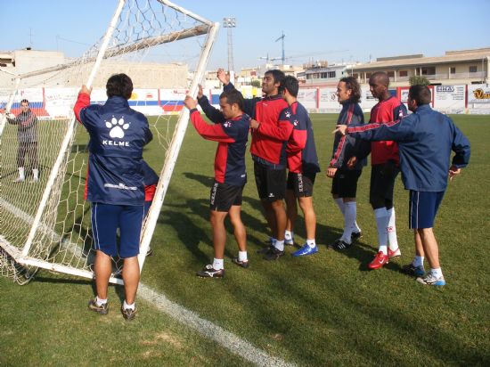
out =
[[75,113],[90,135],[86,199],[113,205],[143,205],[143,146],[151,141],[148,120],[123,97],[88,105],[78,94]]

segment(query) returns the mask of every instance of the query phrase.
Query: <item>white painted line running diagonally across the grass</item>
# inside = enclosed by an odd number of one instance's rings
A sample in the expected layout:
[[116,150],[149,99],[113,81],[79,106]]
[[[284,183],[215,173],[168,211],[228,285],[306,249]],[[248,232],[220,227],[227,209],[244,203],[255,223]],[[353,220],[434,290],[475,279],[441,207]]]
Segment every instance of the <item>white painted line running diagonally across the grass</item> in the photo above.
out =
[[[14,216],[17,216],[21,220],[32,223],[34,218],[29,216],[29,214],[23,212],[19,208],[16,208],[9,202],[0,198],[0,205],[8,211],[12,212]],[[61,240],[61,237],[53,232],[52,229],[47,228],[45,224],[40,224],[41,230],[43,232],[52,232],[53,238]],[[72,249],[72,246],[69,246]],[[73,249],[73,251],[76,251]],[[81,253],[81,251],[80,251]],[[295,364],[287,363],[281,358],[276,358],[271,355],[267,355],[263,350],[254,347],[247,340],[239,338],[230,331],[226,331],[220,326],[217,326],[213,322],[209,322],[203,319],[199,314],[188,310],[184,306],[180,306],[175,302],[172,302],[164,294],[152,290],[150,287],[144,285],[140,282],[138,287],[138,296],[143,298],[145,301],[149,302],[152,306],[157,308],[159,311],[167,314],[168,316],[175,319],[177,322],[181,322],[184,325],[196,330],[201,335],[206,338],[210,338],[216,341],[217,344],[222,347],[227,348],[235,355],[240,355],[243,359],[255,363],[259,366],[294,366]]]

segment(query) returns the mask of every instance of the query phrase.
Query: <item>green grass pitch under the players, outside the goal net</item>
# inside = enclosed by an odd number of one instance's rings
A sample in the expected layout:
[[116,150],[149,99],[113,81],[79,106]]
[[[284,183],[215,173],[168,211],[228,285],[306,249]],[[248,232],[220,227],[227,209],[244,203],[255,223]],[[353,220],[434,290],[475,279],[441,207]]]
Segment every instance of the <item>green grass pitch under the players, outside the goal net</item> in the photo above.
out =
[[[336,115],[312,115],[323,169],[331,156]],[[298,365],[490,364],[490,117],[454,116],[469,137],[470,166],[449,185],[435,232],[447,285],[427,288],[401,273],[412,260],[407,193],[396,184],[397,232],[403,256],[378,271],[366,264],[376,252],[368,203],[370,170],[359,182],[358,223],[363,238],[346,252],[327,250],[343,221],[331,181],[321,173],[314,188],[317,243],[314,257],[288,254],[269,263],[255,251],[267,237],[251,160],[242,219],[248,230],[249,269],[233,265],[229,232],[226,277],[195,276],[213,257],[208,192],[216,143],[189,126],[151,247],[142,283],[232,332],[266,354]],[[145,159],[157,165],[158,144]],[[302,243],[302,217],[296,241]],[[228,226],[231,229],[230,226]],[[110,314],[86,310],[92,283],[41,270],[20,287],[0,277],[0,365],[249,365],[229,349],[140,298],[135,322],[118,312],[121,290],[110,289]],[[198,328],[199,330],[199,328]]]

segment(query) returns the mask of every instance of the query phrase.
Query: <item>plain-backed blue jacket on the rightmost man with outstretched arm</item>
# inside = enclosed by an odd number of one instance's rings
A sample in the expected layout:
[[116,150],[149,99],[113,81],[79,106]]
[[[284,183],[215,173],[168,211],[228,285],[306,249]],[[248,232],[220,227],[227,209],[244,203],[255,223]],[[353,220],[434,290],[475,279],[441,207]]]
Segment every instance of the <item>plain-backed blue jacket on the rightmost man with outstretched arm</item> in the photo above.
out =
[[429,104],[399,120],[347,127],[347,134],[370,140],[398,143],[402,181],[407,190],[443,192],[447,186],[451,151],[455,167],[470,161],[470,142],[453,120]]

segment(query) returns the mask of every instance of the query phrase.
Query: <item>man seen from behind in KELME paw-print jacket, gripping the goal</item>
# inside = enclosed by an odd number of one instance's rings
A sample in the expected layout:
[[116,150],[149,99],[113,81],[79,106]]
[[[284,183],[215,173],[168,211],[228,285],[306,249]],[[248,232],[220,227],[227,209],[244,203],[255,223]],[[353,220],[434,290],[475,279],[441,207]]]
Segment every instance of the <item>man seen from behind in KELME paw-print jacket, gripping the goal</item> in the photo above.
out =
[[75,116],[90,135],[86,200],[92,201],[97,297],[88,302],[88,308],[98,314],[108,313],[110,257],[119,256],[124,259],[126,295],[121,313],[126,320],[133,320],[144,217],[143,146],[152,135],[143,113],[129,108],[131,79],[125,74],[113,75],[106,87],[109,98],[105,104],[90,105],[92,88],[82,86],[74,107]]

